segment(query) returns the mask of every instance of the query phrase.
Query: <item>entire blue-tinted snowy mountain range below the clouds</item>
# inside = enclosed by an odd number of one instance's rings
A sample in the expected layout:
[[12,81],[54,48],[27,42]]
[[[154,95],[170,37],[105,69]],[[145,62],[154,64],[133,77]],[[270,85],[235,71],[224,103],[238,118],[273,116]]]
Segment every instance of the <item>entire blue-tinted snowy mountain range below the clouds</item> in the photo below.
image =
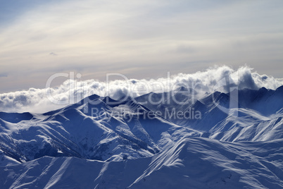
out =
[[236,92],[0,112],[0,188],[283,188],[283,86]]

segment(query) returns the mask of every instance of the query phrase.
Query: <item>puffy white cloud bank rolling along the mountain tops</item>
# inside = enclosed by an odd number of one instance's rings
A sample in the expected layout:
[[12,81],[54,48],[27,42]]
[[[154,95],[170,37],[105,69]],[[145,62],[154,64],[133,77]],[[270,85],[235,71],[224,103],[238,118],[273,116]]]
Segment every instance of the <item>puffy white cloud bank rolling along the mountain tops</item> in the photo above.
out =
[[[109,76],[110,79],[111,76],[113,75]],[[150,80],[126,80],[127,75],[115,75],[115,77],[121,77],[121,79],[110,80],[109,82],[69,79],[58,87],[30,88],[30,90],[0,94],[0,111],[44,113],[73,104],[92,94],[119,99],[127,95],[137,97],[149,92],[168,92],[180,86],[194,88],[199,94],[216,90],[227,92],[227,87],[231,85],[231,81],[239,89],[257,90],[260,87],[266,87],[275,90],[283,85],[283,79],[259,75],[247,66],[237,70],[228,66],[215,66],[193,74],[170,75],[168,73],[168,78]],[[225,81],[227,78],[229,78],[230,83],[223,83],[223,80]],[[51,96],[46,96],[46,94],[51,94]]]

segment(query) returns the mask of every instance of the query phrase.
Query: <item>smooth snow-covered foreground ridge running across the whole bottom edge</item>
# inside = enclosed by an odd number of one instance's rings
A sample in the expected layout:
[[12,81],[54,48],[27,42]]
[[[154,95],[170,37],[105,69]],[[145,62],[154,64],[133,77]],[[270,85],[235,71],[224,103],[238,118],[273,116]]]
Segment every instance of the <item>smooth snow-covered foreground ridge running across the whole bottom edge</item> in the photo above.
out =
[[283,188],[283,140],[182,138],[142,159],[42,157],[0,167],[3,188]]

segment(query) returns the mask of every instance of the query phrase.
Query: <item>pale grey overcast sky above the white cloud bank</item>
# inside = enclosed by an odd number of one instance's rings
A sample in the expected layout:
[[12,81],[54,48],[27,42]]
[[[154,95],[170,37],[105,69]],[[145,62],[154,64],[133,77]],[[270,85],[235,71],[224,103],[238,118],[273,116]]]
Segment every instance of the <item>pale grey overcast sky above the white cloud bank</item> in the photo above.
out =
[[[0,0],[0,93],[249,65],[283,78],[283,1]],[[60,84],[63,80],[57,80]]]

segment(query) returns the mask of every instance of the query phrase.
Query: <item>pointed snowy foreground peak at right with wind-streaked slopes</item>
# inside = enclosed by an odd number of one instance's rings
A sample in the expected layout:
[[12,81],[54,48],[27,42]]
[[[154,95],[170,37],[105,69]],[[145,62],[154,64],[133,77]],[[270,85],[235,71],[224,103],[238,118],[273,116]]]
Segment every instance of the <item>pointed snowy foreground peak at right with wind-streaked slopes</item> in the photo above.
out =
[[283,188],[283,140],[183,138],[153,157],[130,188]]

